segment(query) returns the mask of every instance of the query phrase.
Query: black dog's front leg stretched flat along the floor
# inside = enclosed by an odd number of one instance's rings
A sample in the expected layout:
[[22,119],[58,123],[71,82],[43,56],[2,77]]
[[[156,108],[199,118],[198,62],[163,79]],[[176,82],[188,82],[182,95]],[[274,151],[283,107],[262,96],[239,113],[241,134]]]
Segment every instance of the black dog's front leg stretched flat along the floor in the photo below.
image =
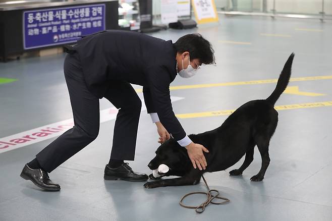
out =
[[[197,169],[196,169],[197,170]],[[164,179],[153,182],[147,182],[144,184],[144,188],[151,189],[157,187],[167,187],[167,186],[187,186],[187,185],[196,185],[199,183],[202,173],[193,170],[193,172],[174,179]]]

